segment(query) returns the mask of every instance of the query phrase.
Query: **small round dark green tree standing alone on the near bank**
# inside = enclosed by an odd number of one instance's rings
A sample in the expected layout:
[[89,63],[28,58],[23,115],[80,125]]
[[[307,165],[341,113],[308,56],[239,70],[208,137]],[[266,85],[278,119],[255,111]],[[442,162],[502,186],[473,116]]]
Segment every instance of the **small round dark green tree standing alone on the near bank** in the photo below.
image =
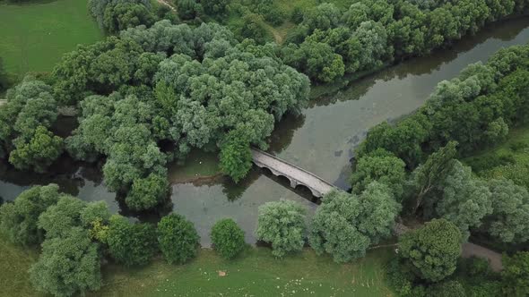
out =
[[221,219],[212,227],[212,242],[222,258],[233,259],[244,249],[244,231],[232,219]]

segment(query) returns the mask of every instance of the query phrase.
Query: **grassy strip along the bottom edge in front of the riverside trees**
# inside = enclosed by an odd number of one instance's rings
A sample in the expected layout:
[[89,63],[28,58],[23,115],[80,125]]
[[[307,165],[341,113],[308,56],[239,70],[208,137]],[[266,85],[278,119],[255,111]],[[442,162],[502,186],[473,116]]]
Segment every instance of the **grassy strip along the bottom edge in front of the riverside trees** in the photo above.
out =
[[[201,250],[191,263],[177,266],[157,259],[143,268],[108,265],[103,287],[89,296],[393,296],[384,283],[391,250],[372,250],[352,264],[335,264],[304,250],[274,259],[270,250],[248,248],[235,260]],[[36,296],[27,269],[37,259],[0,238],[0,296]],[[226,276],[219,276],[219,271]]]

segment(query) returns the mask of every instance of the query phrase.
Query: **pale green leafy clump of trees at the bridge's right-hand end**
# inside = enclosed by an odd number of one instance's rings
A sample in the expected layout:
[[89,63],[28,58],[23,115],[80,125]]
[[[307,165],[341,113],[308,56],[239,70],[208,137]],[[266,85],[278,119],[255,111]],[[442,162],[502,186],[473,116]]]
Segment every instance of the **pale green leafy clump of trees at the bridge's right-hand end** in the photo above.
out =
[[335,262],[363,257],[370,244],[391,235],[400,208],[383,183],[371,182],[360,196],[332,191],[312,219],[310,246]]

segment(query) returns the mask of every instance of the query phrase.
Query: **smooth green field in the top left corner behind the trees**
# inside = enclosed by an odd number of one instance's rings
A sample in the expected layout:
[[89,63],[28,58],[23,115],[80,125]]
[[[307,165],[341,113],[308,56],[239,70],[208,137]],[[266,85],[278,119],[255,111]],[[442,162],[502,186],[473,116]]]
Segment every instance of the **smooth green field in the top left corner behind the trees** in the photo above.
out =
[[103,38],[86,4],[87,0],[0,1],[0,57],[5,70],[18,78],[26,72],[49,72],[78,44]]

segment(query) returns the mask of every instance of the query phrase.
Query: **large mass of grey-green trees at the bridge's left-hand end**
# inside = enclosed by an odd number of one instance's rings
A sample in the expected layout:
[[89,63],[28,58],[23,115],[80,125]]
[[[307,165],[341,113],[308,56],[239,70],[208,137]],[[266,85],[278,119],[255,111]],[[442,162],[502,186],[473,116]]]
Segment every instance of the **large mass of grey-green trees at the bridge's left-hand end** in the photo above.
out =
[[297,112],[309,88],[272,45],[238,43],[215,23],[191,28],[167,20],[79,47],[53,74],[58,98],[82,110],[68,152],[86,161],[106,157],[108,189],[128,194],[138,210],[158,205],[165,165],[192,148],[220,149],[225,172],[242,178],[249,146],[267,148],[275,121]]

